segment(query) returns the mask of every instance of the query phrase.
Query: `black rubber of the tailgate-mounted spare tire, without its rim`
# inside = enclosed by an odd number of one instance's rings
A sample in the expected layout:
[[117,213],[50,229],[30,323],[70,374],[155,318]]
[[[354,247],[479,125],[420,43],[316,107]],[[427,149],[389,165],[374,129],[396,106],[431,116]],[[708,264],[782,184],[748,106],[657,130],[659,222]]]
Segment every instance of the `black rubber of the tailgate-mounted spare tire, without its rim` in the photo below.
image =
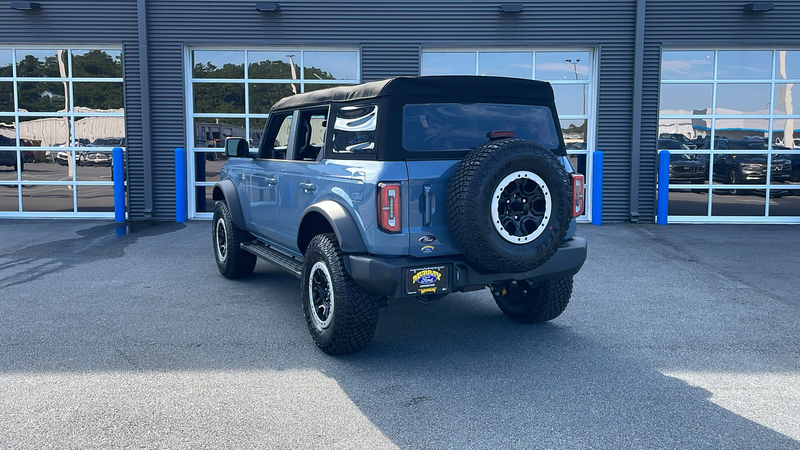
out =
[[[526,243],[508,242],[492,219],[494,191],[518,171],[541,177],[551,197],[544,230]],[[456,247],[470,261],[490,271],[521,273],[558,250],[570,227],[571,198],[569,174],[552,152],[523,139],[500,139],[470,151],[450,177],[447,222]]]

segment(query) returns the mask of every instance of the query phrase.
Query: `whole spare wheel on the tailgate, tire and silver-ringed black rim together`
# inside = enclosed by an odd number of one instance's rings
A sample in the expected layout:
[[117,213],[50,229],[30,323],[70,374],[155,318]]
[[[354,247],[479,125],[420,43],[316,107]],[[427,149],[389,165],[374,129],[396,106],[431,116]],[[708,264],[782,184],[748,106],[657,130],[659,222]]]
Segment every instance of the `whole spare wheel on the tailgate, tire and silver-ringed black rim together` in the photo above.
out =
[[523,139],[476,147],[447,189],[458,250],[479,267],[522,273],[541,266],[570,227],[569,175],[552,152]]

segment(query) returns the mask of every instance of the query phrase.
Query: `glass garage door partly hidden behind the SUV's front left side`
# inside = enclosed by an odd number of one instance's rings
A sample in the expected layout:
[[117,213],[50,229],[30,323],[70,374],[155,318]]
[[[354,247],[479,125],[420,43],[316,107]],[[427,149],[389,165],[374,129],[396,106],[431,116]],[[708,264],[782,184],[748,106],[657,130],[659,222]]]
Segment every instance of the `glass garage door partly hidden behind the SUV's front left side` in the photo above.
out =
[[212,187],[226,161],[227,137],[258,148],[270,109],[281,98],[358,82],[358,51],[350,49],[195,47],[189,60],[190,217],[214,212]]

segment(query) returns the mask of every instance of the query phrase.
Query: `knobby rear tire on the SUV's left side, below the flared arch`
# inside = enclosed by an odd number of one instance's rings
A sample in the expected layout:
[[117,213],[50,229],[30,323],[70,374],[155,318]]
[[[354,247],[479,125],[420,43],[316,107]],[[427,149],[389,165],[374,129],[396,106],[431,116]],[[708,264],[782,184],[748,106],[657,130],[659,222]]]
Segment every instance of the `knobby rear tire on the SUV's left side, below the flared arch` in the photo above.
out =
[[[316,312],[309,285],[312,283],[311,270],[316,263],[324,264],[333,285],[331,318],[326,327],[321,327],[312,317]],[[316,235],[311,239],[303,260],[301,289],[306,323],[311,338],[322,352],[343,355],[358,352],[369,344],[378,323],[378,296],[368,294],[347,273],[344,253],[334,233]]]

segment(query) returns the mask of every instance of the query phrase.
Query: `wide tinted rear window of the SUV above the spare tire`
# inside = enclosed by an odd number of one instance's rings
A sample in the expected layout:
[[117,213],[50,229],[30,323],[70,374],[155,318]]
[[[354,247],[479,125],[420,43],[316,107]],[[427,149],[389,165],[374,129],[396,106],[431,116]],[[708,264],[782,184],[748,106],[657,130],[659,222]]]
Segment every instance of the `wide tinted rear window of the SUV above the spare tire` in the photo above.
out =
[[495,103],[426,103],[403,106],[402,145],[407,151],[468,150],[494,131],[512,131],[550,149],[559,139],[547,106]]

